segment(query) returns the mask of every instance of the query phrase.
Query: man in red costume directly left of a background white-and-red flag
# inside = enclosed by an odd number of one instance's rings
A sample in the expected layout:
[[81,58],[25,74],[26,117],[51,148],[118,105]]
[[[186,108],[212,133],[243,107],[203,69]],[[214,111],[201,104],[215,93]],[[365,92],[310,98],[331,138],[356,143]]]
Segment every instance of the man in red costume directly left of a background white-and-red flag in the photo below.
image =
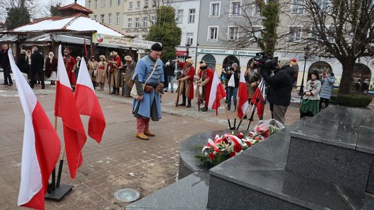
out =
[[205,106],[202,111],[208,111],[209,95],[211,95],[211,86],[213,82],[213,70],[208,68],[204,61],[200,61],[199,73],[197,74],[197,88],[202,87],[200,93],[200,104],[205,101]]

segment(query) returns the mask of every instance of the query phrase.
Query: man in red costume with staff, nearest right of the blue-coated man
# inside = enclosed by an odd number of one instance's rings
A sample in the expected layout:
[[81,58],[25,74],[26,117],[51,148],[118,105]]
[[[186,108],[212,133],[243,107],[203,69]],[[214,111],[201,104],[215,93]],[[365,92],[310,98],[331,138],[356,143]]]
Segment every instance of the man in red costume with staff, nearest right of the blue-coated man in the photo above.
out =
[[186,97],[188,97],[188,104],[186,107],[191,107],[191,100],[193,99],[193,77],[195,76],[195,68],[193,68],[193,59],[186,59],[186,62],[181,62],[177,59],[179,68],[182,69],[181,77],[179,77],[178,95],[182,95],[183,102],[178,106],[186,106]]

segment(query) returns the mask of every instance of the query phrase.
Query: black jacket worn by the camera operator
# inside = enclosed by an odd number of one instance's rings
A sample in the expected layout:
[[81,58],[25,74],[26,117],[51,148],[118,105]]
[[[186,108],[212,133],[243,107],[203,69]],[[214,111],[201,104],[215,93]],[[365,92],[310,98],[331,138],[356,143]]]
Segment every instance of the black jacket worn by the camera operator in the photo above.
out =
[[269,84],[267,100],[270,104],[278,106],[289,106],[291,102],[291,91],[294,85],[294,71],[287,65],[269,76],[267,70],[260,71],[265,82]]

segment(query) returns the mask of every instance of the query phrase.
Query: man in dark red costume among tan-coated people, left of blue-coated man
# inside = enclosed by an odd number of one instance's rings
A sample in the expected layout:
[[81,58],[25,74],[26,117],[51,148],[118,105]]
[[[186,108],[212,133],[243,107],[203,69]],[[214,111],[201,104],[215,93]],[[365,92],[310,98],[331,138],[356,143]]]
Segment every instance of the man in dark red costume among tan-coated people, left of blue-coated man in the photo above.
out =
[[112,93],[119,95],[119,87],[120,87],[120,70],[121,67],[121,57],[119,57],[118,53],[113,51],[110,53],[110,60],[108,61],[108,70],[109,70],[109,78],[110,78],[110,86],[113,88]]

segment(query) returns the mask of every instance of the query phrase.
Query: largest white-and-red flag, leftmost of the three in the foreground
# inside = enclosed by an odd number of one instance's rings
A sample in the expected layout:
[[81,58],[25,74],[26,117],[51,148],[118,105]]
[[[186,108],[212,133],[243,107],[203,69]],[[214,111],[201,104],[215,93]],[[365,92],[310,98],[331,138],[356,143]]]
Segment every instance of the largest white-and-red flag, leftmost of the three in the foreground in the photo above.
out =
[[8,50],[8,56],[25,115],[18,205],[44,209],[48,179],[60,155],[60,139],[30,85],[16,66],[11,49]]

